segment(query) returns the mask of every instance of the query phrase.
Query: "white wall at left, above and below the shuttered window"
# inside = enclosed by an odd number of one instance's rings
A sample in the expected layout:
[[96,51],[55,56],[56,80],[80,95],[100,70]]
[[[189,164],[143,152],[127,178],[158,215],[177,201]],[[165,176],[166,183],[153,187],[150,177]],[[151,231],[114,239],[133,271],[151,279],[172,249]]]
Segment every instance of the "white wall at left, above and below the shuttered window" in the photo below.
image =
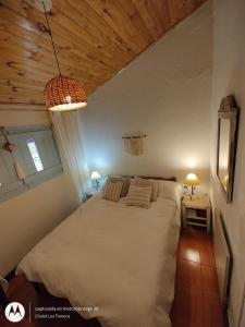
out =
[[[49,123],[45,112],[0,111],[0,125]],[[75,209],[74,190],[60,174],[28,192],[0,203],[0,275]]]

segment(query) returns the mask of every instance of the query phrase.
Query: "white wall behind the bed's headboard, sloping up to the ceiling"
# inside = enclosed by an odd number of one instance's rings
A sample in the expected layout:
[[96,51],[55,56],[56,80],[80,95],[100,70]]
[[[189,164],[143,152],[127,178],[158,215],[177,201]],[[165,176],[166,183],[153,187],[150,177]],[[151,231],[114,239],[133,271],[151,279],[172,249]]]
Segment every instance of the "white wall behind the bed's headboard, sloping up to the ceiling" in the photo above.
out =
[[[205,4],[89,97],[82,112],[90,170],[176,175],[209,190],[212,10]],[[132,157],[122,135],[143,131]]]

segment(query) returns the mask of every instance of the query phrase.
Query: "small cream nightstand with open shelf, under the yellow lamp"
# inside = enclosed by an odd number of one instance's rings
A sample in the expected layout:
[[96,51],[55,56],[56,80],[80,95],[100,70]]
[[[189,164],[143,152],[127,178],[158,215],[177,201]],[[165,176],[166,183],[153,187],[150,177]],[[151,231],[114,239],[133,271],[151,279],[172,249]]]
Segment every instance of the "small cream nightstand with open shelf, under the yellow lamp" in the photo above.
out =
[[193,199],[185,196],[182,199],[182,218],[183,226],[199,226],[205,227],[210,231],[210,201],[207,195],[195,196]]

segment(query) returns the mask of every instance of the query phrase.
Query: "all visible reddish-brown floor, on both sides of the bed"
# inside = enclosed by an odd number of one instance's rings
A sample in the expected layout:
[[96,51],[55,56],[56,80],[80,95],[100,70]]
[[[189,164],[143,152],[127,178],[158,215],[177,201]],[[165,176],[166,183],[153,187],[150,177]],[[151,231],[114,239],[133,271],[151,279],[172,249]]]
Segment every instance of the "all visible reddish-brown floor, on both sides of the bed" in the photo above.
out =
[[[33,286],[23,278],[10,282],[9,296],[19,301],[28,310],[32,306],[69,306],[64,300],[53,298],[46,292],[38,294]],[[72,314],[69,320],[37,320],[32,312],[32,323],[26,318],[14,324],[20,327],[97,327],[97,322],[83,320]],[[223,327],[222,307],[218,290],[216,265],[210,234],[205,231],[187,229],[181,232],[177,250],[177,269],[175,299],[171,310],[172,327]],[[0,326],[12,327],[0,308]],[[140,326],[138,326],[140,327]],[[154,326],[150,326],[154,327]]]

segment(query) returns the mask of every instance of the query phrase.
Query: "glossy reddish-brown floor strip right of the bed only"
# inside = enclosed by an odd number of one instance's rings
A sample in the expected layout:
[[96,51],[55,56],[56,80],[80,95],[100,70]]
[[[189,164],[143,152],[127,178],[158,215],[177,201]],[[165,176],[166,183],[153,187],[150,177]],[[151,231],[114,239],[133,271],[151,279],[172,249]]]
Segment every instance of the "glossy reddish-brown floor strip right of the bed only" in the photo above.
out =
[[177,249],[172,327],[223,327],[211,234],[187,228]]

